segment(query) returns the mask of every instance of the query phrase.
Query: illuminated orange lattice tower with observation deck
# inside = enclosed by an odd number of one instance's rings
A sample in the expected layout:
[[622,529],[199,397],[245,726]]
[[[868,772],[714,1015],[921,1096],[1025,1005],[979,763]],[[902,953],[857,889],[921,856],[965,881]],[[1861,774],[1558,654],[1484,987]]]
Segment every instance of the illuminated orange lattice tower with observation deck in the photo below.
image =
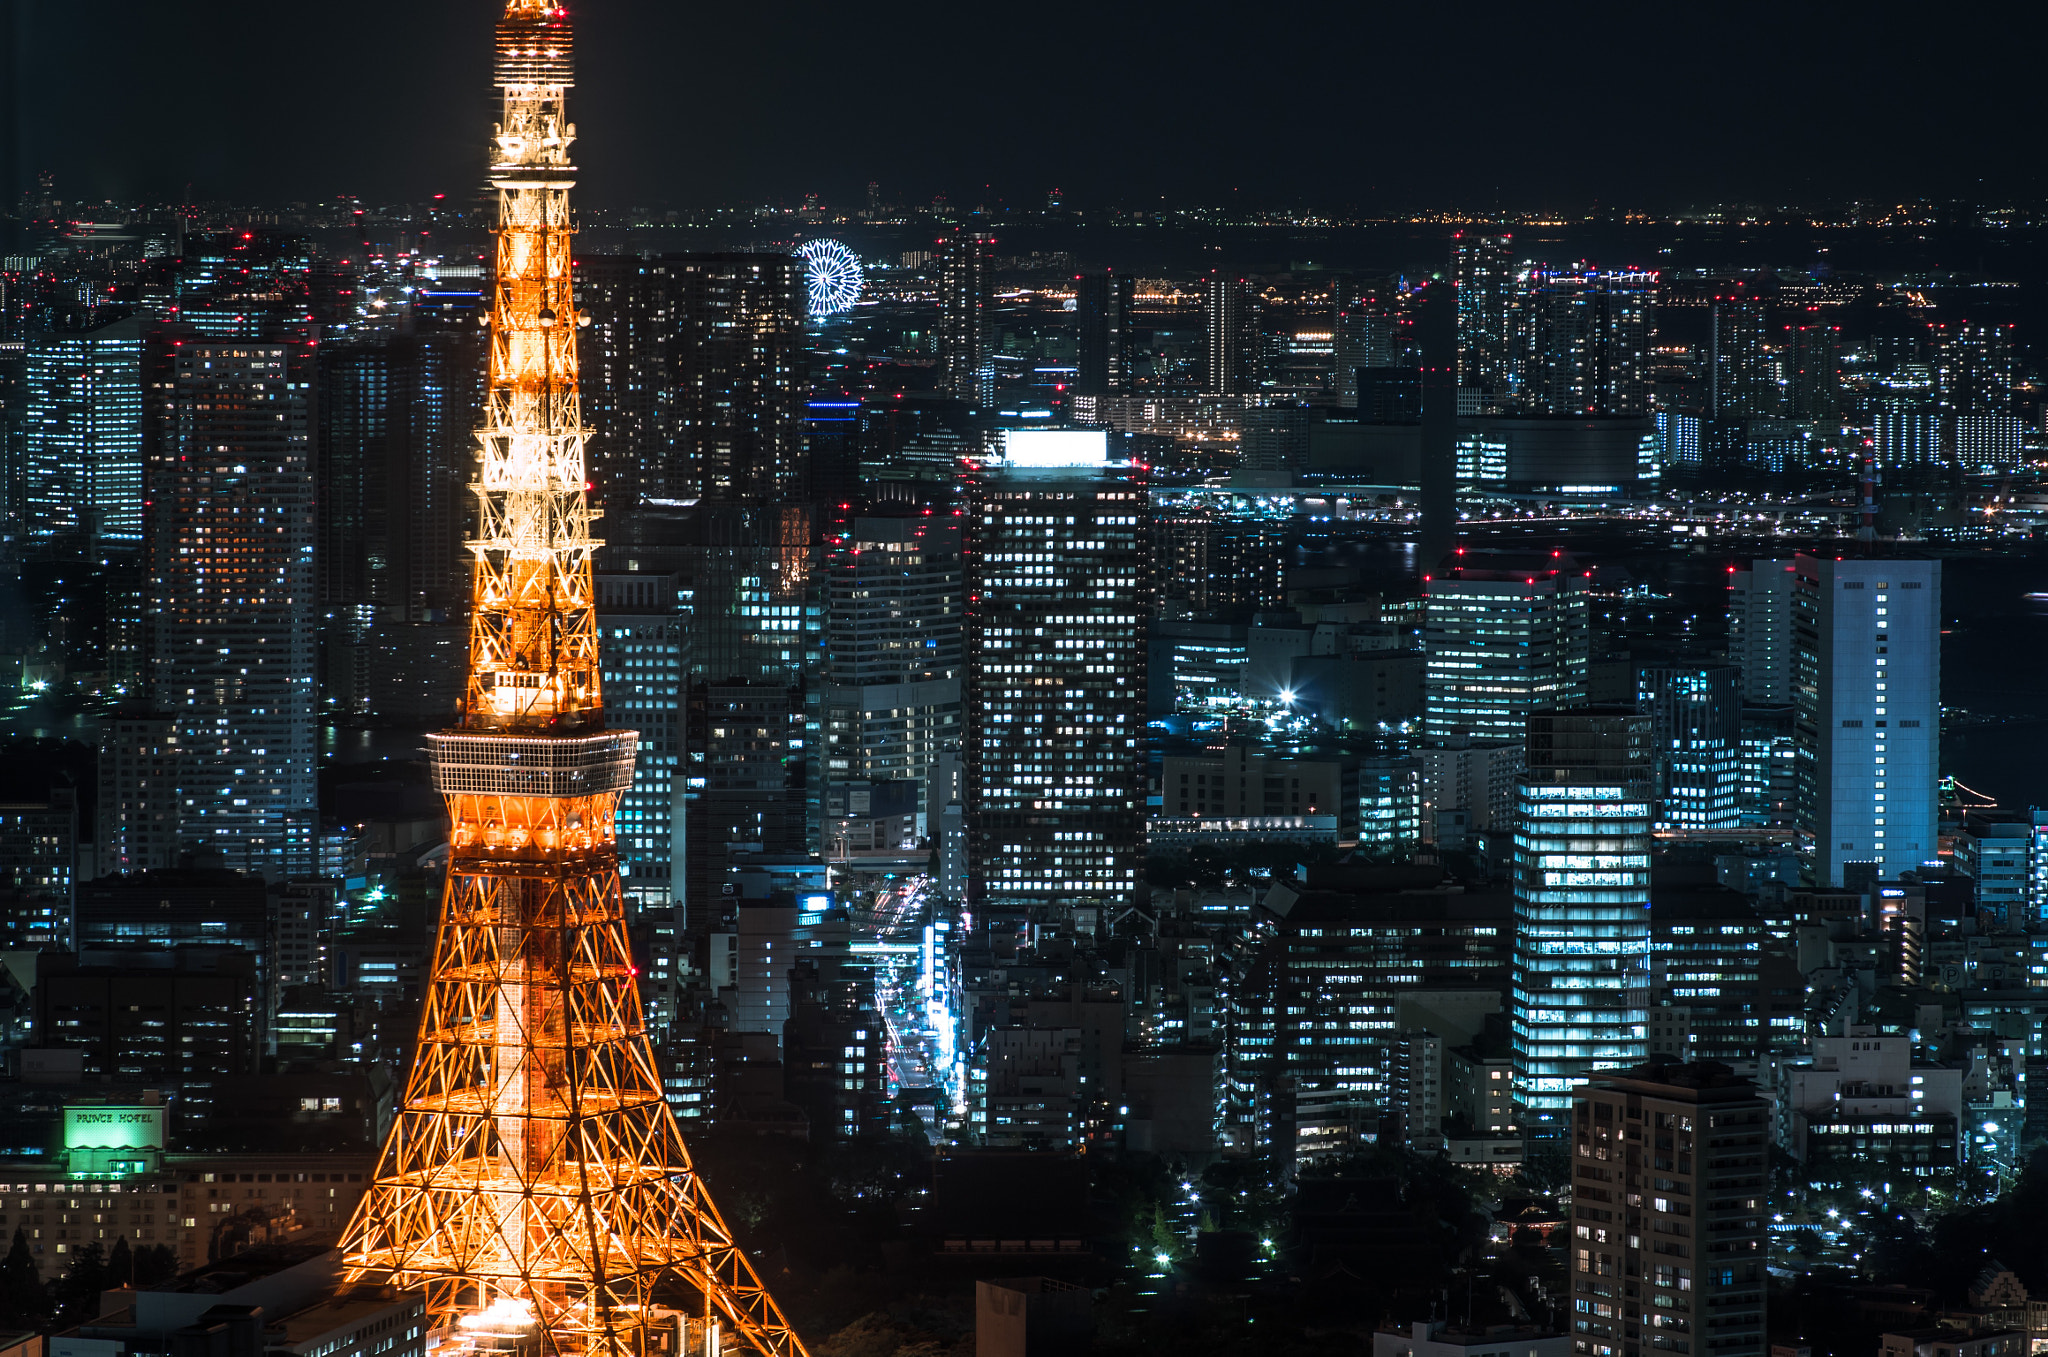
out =
[[[449,888],[406,1105],[344,1238],[442,1353],[803,1357],[690,1167],[641,1019],[612,821],[569,287],[569,16],[510,0],[461,725],[430,735]],[[430,1349],[432,1351],[432,1349]]]

